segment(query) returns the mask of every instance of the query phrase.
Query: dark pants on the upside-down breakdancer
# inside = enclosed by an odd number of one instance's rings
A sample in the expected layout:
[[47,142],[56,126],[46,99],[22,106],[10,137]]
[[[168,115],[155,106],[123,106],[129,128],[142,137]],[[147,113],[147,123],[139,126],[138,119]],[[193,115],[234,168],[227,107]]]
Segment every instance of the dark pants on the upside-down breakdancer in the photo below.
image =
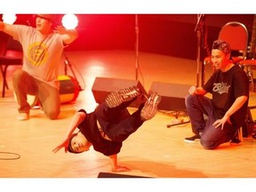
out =
[[95,109],[100,126],[109,139],[116,142],[124,141],[143,124],[140,120],[140,111],[144,104],[141,104],[140,108],[130,115],[127,107],[132,101],[124,102],[116,108],[108,108],[105,103],[101,103]]

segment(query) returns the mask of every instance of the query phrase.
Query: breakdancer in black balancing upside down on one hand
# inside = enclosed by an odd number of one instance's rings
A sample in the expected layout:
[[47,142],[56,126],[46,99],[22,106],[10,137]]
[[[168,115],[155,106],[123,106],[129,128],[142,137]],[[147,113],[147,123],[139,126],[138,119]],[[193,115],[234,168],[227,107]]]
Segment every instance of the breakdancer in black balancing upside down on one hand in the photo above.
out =
[[[101,103],[92,113],[87,114],[80,109],[68,126],[68,132],[62,143],[53,149],[56,153],[60,148],[65,152],[82,153],[92,146],[94,150],[109,156],[113,172],[129,171],[127,167],[117,165],[117,154],[122,148],[123,141],[147,120],[156,115],[161,97],[154,92],[146,102],[132,115],[127,107],[143,96],[138,87],[129,87],[108,94],[105,102]],[[79,132],[73,133],[79,129]]]

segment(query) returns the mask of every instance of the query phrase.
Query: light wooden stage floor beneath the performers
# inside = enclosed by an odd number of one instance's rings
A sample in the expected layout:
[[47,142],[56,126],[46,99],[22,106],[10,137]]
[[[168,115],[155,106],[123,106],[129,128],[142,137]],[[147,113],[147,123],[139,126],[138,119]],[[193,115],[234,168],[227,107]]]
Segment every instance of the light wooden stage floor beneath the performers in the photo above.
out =
[[[17,104],[11,81],[13,71],[20,67],[11,66],[8,69],[7,81],[10,89],[6,91],[4,98],[0,98],[1,178],[77,179],[97,178],[100,172],[111,173],[108,157],[92,148],[79,155],[65,154],[63,149],[56,154],[52,153],[52,149],[62,140],[76,110],[85,108],[90,112],[95,108],[92,84],[97,76],[135,80],[137,71],[140,83],[146,91],[153,82],[196,84],[196,60],[140,52],[137,68],[135,52],[132,51],[66,54],[84,91],[79,92],[75,102],[61,105],[58,120],[49,120],[39,109],[31,111],[28,121],[17,120]],[[63,59],[60,75],[64,75],[64,66]],[[205,71],[207,78],[212,72],[211,66],[206,66]],[[68,75],[73,76],[69,67]],[[0,78],[2,85],[3,77]],[[254,102],[255,94],[251,92],[250,105]],[[131,112],[135,109],[129,108]],[[132,171],[118,174],[161,179],[255,178],[256,140],[249,137],[244,138],[239,147],[230,147],[227,143],[218,149],[206,150],[199,142],[188,144],[183,141],[185,137],[192,135],[189,123],[167,128],[167,124],[172,124],[174,118],[172,111],[159,110],[152,120],[125,140],[118,155],[119,164],[130,167]],[[187,116],[179,118],[188,120]]]

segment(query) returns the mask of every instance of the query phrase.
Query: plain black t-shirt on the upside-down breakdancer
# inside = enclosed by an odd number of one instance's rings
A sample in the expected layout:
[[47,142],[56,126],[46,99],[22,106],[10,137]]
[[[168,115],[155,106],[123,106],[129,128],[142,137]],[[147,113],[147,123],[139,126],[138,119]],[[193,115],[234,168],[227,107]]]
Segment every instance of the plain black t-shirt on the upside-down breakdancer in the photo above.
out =
[[123,143],[105,140],[101,137],[95,113],[87,114],[84,109],[80,109],[79,112],[84,112],[86,116],[84,121],[78,124],[77,128],[84,134],[85,138],[92,143],[94,150],[105,156],[119,153]]

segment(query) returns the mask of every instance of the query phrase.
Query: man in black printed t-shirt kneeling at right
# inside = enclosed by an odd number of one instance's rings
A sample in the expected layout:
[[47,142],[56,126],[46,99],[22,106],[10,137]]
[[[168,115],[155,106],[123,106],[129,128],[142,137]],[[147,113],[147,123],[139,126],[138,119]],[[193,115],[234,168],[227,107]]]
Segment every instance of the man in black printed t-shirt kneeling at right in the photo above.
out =
[[[203,87],[192,86],[185,99],[193,137],[207,149],[218,148],[231,140],[240,144],[238,129],[244,125],[249,100],[249,80],[243,68],[234,64],[230,45],[222,40],[212,44],[214,73]],[[205,96],[212,94],[212,99]],[[204,116],[207,116],[205,121]]]

